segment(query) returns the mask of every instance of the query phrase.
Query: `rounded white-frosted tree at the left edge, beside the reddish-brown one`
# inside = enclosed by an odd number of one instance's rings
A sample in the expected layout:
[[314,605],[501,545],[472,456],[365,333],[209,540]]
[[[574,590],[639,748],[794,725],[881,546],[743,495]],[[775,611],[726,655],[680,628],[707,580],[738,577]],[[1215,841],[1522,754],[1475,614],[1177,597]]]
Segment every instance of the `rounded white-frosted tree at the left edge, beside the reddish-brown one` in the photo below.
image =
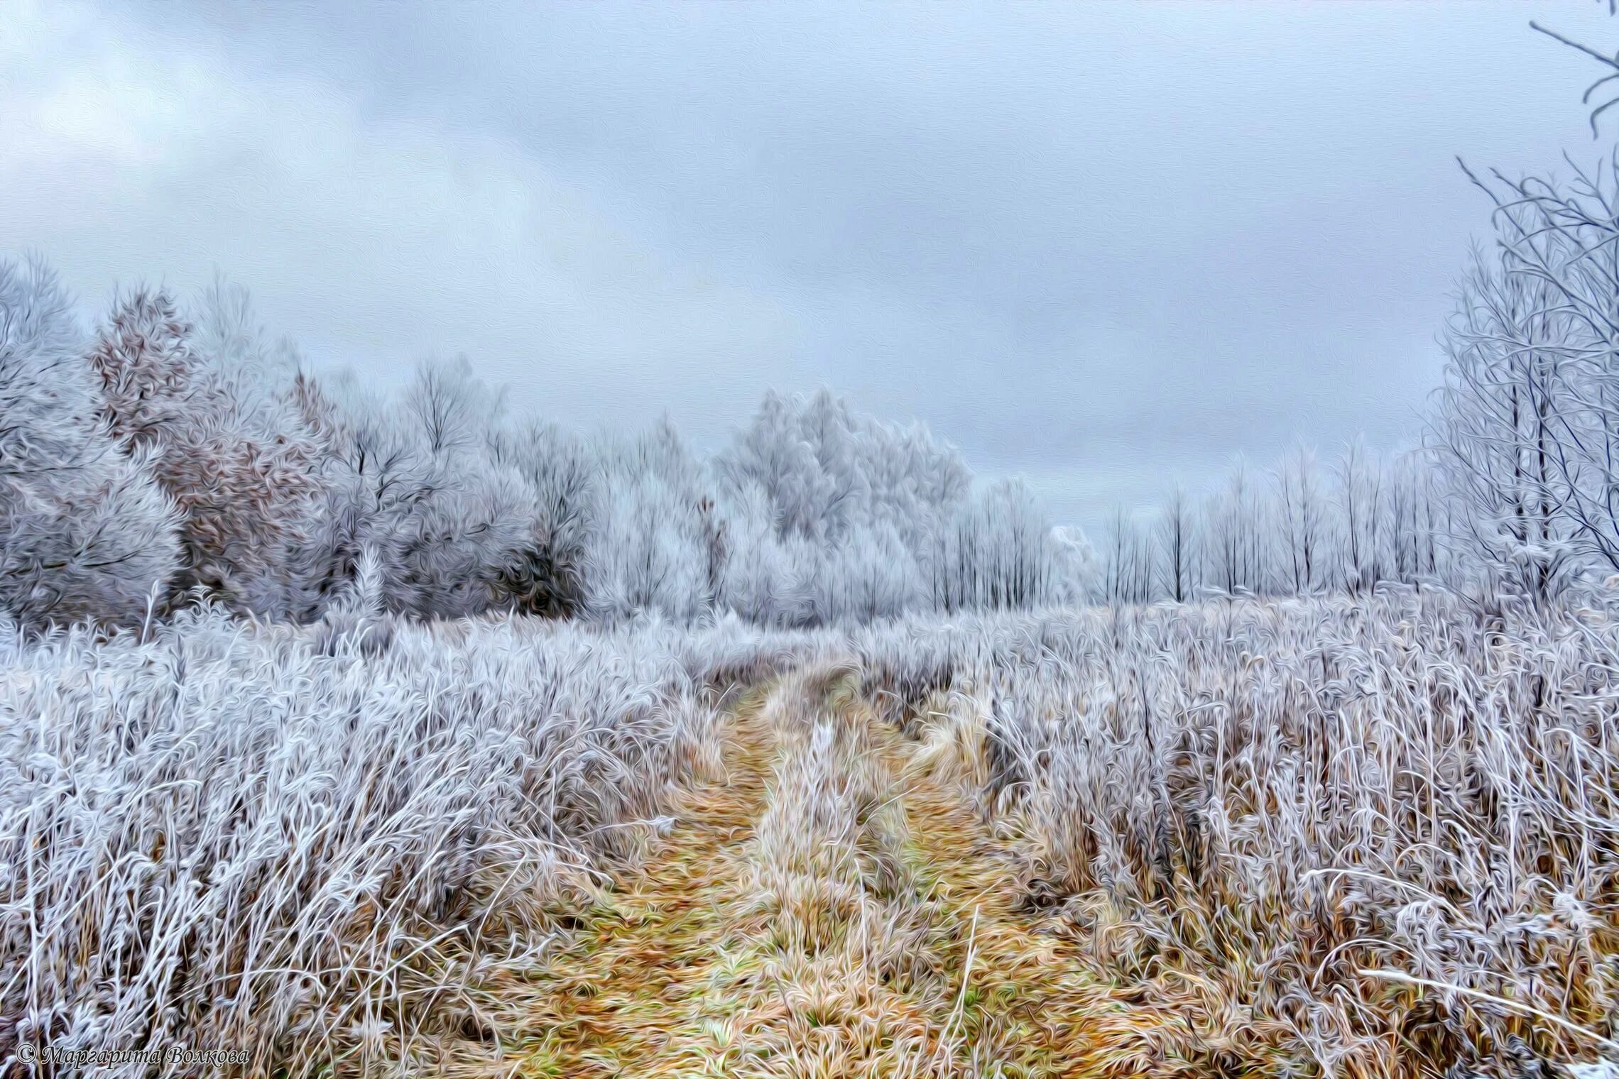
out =
[[0,262],[0,608],[28,629],[136,623],[178,565],[151,451],[100,416],[55,277]]

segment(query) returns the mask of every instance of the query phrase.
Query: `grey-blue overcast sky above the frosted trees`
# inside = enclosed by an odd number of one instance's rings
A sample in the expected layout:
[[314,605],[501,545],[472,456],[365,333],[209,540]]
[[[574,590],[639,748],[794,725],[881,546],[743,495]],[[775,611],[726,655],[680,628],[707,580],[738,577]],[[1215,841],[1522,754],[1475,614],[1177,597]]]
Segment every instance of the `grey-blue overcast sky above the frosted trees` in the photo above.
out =
[[[0,252],[96,311],[215,269],[319,367],[515,411],[767,387],[1094,526],[1294,437],[1392,446],[1483,197],[1593,160],[1598,3],[0,0]],[[1608,134],[1608,133],[1604,133]]]

